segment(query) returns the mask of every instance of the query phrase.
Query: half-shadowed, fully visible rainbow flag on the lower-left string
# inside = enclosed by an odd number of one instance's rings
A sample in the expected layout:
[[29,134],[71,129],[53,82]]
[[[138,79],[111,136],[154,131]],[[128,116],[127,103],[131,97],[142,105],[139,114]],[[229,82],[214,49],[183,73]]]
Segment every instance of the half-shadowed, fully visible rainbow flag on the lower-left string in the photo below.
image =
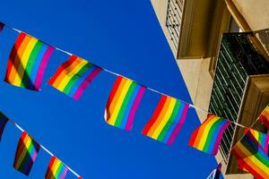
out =
[[39,143],[34,141],[26,132],[22,132],[16,149],[14,168],[24,175],[29,175],[31,166],[38,156],[39,149]]

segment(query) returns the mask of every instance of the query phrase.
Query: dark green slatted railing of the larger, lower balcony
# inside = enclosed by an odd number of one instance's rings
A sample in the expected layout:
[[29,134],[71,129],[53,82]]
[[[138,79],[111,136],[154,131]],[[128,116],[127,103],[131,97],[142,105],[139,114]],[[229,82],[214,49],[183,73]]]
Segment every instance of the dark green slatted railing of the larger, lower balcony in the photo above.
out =
[[[224,34],[213,82],[209,110],[211,113],[238,121],[247,76],[269,73],[269,63],[251,43],[253,33]],[[263,34],[268,39],[268,33]],[[221,138],[221,155],[227,163],[235,126],[231,124]]]

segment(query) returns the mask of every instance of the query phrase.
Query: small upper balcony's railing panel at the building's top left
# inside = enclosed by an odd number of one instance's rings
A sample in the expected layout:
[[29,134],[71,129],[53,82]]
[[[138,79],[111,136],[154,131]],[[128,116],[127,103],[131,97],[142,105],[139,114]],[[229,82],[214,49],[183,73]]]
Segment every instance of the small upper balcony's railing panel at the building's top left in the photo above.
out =
[[166,27],[173,46],[178,49],[182,15],[185,7],[185,0],[169,0],[166,16]]

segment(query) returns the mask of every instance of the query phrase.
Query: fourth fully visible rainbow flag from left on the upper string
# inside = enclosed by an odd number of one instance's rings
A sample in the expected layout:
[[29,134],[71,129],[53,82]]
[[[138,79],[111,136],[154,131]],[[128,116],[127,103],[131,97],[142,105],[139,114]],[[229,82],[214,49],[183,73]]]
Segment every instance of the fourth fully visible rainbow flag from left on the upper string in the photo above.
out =
[[189,105],[176,98],[162,95],[150,121],[142,133],[154,140],[171,145],[184,123]]

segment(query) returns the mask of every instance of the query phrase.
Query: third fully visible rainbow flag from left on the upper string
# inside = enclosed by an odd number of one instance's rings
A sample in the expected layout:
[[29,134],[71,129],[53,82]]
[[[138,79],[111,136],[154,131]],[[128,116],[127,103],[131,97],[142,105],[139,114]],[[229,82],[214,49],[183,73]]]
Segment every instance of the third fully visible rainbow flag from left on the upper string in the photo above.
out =
[[145,87],[136,82],[117,76],[106,106],[105,120],[107,123],[131,131],[134,115],[144,90]]

